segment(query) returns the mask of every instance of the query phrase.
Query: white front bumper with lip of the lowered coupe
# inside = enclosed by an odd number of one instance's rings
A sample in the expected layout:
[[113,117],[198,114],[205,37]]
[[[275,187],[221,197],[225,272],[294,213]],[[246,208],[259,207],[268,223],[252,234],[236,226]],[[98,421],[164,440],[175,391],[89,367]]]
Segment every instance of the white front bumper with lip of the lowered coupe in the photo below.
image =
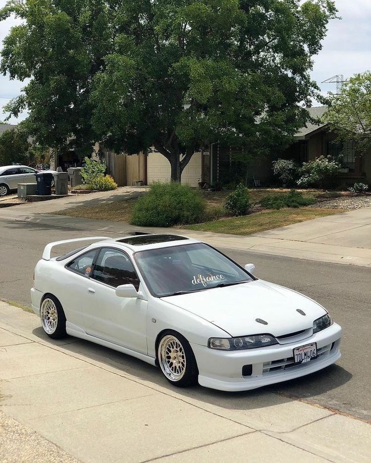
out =
[[[334,323],[319,333],[295,343],[243,351],[218,351],[192,344],[199,368],[199,383],[212,389],[241,391],[314,373],[339,360],[341,333],[341,327]],[[294,348],[314,342],[317,343],[317,359],[289,366]],[[242,376],[244,365],[252,365],[251,375]]]

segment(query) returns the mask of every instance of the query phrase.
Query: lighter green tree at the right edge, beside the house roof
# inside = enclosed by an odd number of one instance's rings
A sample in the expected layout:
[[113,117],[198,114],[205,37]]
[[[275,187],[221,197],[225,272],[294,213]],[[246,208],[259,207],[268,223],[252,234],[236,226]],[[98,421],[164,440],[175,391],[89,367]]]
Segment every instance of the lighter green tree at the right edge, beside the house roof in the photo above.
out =
[[354,142],[362,155],[371,150],[371,72],[356,74],[346,82],[338,95],[330,97],[324,116],[330,129],[342,142]]

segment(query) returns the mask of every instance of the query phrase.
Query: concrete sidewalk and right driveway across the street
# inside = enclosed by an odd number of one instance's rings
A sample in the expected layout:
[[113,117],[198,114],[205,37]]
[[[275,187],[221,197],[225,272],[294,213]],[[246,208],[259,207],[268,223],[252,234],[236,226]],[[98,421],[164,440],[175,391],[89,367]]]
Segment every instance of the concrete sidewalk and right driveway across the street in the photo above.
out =
[[[58,201],[60,200],[54,202]],[[97,199],[96,201],[105,200]],[[46,210],[45,205],[37,205],[36,209],[33,205],[27,206],[31,207],[16,206],[0,210],[0,219],[41,223],[56,228],[72,227],[91,230],[92,235],[99,232],[99,234],[109,233],[122,236],[133,230],[150,233],[177,233],[200,239],[218,248],[250,250],[300,259],[371,267],[371,208],[308,220],[254,235],[239,236],[179,228],[135,227],[125,222],[56,216],[40,213]],[[59,209],[66,207],[68,206],[59,206]]]

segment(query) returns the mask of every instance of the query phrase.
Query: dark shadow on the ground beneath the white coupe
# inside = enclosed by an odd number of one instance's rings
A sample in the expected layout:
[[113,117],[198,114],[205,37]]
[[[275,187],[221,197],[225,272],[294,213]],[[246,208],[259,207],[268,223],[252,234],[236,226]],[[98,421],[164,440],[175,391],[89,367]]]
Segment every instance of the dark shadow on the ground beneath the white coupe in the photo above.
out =
[[141,360],[98,344],[78,338],[64,340],[48,338],[40,327],[33,334],[51,346],[59,346],[67,355],[81,355],[89,361],[113,367],[128,379],[145,381],[147,386],[170,395],[181,395],[184,400],[201,401],[230,410],[253,410],[284,404],[293,400],[322,403],[321,395],[348,382],[352,375],[338,365],[332,365],[302,378],[242,392],[224,392],[202,386],[177,388],[169,384],[159,368]]

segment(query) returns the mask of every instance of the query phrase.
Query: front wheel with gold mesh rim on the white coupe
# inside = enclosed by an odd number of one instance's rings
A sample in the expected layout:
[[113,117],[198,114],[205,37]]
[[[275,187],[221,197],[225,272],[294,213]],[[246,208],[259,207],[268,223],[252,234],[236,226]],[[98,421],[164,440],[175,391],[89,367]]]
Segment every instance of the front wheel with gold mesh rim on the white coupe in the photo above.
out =
[[195,354],[184,336],[172,330],[164,332],[157,346],[157,359],[165,378],[174,386],[197,384]]

